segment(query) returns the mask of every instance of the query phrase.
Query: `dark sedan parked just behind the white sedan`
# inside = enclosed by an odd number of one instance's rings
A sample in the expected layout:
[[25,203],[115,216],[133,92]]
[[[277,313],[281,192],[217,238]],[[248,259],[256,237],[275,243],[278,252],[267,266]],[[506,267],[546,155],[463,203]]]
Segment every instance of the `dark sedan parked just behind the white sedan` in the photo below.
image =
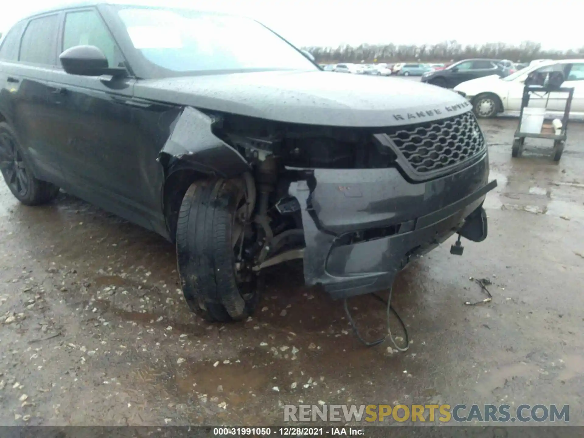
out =
[[426,72],[422,75],[422,82],[453,88],[461,82],[490,75],[505,76],[505,67],[498,64],[498,60],[463,60],[443,70]]

